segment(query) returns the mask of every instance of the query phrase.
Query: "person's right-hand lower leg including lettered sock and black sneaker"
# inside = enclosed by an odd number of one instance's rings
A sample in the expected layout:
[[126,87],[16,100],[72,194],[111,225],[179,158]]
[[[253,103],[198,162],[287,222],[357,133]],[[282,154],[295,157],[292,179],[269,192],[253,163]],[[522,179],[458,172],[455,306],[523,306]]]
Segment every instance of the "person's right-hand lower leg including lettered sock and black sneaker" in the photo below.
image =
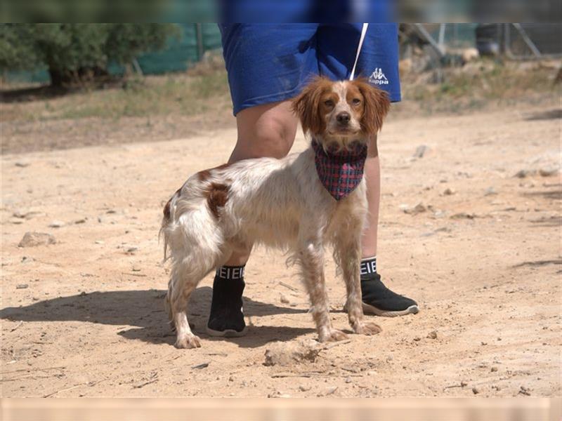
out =
[[363,312],[377,316],[403,316],[417,313],[417,303],[386,288],[377,273],[377,235],[379,231],[379,207],[381,203],[381,167],[377,136],[370,140],[365,161],[367,178],[366,229],[361,246],[361,297]]

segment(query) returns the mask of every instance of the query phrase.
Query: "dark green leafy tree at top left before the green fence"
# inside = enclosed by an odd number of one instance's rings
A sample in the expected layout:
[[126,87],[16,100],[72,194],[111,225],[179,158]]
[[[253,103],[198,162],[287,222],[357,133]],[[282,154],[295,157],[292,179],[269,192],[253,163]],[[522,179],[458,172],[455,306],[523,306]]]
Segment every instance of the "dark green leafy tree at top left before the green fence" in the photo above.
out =
[[48,67],[51,85],[64,86],[107,76],[109,62],[128,64],[178,33],[171,24],[2,24],[0,70]]

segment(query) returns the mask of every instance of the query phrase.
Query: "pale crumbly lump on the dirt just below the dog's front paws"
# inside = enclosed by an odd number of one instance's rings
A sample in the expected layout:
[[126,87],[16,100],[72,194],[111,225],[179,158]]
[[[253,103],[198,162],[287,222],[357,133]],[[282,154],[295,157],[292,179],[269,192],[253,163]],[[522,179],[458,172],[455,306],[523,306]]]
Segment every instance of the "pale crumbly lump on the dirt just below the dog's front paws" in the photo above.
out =
[[292,366],[295,363],[315,362],[322,347],[315,340],[274,342],[266,349],[264,366]]

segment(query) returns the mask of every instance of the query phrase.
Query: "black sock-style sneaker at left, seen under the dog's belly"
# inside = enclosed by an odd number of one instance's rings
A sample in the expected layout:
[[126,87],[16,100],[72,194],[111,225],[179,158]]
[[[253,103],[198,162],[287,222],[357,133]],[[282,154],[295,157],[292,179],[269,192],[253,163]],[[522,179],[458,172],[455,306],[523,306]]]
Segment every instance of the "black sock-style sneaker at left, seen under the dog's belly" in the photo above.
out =
[[211,336],[237,338],[246,335],[247,328],[242,313],[243,279],[219,279],[213,282],[211,314],[207,333]]

